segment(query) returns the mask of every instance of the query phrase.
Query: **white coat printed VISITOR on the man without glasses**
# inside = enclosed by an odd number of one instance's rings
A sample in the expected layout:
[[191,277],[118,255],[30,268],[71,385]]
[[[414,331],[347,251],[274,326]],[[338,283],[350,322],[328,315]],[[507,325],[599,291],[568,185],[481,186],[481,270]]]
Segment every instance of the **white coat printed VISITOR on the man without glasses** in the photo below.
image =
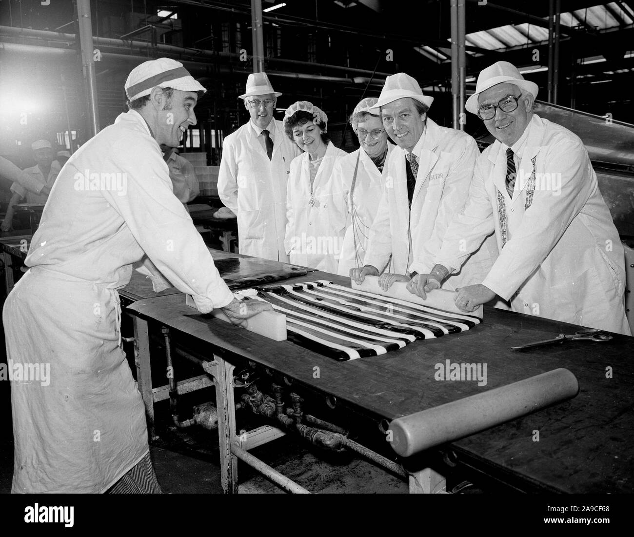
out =
[[[424,136],[411,212],[408,210],[406,152],[400,147],[394,148],[387,163],[384,195],[370,230],[363,262],[379,271],[387,266],[391,255],[388,272],[428,273],[451,219],[467,201],[479,155],[475,140],[462,131],[441,127],[429,117]],[[454,289],[479,283],[493,266],[497,254],[495,239],[491,237],[460,274],[446,281],[445,287]]]

